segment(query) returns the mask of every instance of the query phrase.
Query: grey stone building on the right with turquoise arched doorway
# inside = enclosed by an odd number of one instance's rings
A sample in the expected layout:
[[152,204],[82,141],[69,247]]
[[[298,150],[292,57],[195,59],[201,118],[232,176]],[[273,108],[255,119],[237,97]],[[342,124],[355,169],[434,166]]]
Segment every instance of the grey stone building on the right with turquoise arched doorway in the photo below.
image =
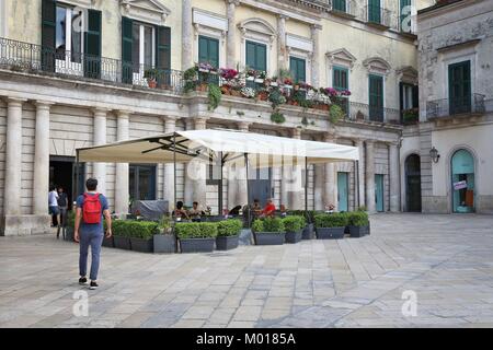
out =
[[493,1],[438,2],[417,27],[421,120],[403,133],[404,210],[492,213]]

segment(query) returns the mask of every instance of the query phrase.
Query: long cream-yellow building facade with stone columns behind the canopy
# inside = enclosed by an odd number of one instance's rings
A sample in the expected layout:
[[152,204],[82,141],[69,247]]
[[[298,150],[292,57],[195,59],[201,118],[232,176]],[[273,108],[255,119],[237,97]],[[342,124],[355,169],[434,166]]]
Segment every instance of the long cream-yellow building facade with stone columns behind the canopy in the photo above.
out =
[[[403,124],[413,121],[419,102],[411,9],[433,3],[0,0],[2,234],[45,232],[49,185],[64,186],[73,199],[82,190],[76,183],[89,176],[100,180],[118,214],[131,199],[197,200],[219,211],[218,185],[191,178],[183,164],[177,198],[169,165],[99,163],[76,171],[80,147],[205,128],[359,148],[357,166],[268,170],[250,184],[262,200],[303,208],[303,190],[290,191],[282,180],[290,172],[308,178],[310,209],[402,210],[402,136],[414,132]],[[200,61],[267,77],[285,69],[316,88],[349,90],[345,117],[335,122],[326,110],[283,104],[285,121],[276,124],[271,103],[230,95],[210,110],[206,92],[184,91],[183,72]],[[157,88],[147,79],[154,70],[162,73]],[[241,172],[226,168],[225,175],[234,171]],[[227,182],[222,197],[225,208],[246,203],[246,183]]]

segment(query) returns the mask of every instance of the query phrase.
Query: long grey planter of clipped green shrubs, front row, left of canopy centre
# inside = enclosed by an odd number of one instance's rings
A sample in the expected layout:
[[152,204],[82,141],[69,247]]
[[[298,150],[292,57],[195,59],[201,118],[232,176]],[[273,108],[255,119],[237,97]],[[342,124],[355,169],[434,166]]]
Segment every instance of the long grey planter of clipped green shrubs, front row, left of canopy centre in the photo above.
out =
[[214,222],[176,223],[174,226],[182,253],[209,253],[214,250],[217,224]]

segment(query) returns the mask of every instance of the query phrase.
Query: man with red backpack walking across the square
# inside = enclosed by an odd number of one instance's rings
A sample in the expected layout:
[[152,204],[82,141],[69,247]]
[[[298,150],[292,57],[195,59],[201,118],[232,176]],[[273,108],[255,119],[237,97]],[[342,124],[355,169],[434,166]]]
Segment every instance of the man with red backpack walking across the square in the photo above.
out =
[[[106,237],[112,236],[112,218],[107,199],[96,192],[98,179],[89,178],[85,182],[88,191],[77,198],[74,240],[80,242],[79,256],[79,284],[88,284],[85,277],[88,269],[88,250],[91,246],[91,283],[89,289],[98,288],[98,271],[100,269],[101,245],[104,238],[103,217],[106,220]],[[82,223],[81,223],[82,221]]]

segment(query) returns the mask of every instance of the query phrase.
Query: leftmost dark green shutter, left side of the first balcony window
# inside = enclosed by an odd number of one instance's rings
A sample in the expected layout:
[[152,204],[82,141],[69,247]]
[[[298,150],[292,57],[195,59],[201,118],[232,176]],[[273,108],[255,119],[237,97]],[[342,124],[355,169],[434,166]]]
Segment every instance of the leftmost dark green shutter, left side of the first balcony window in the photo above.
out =
[[42,69],[55,71],[56,1],[42,2]]

